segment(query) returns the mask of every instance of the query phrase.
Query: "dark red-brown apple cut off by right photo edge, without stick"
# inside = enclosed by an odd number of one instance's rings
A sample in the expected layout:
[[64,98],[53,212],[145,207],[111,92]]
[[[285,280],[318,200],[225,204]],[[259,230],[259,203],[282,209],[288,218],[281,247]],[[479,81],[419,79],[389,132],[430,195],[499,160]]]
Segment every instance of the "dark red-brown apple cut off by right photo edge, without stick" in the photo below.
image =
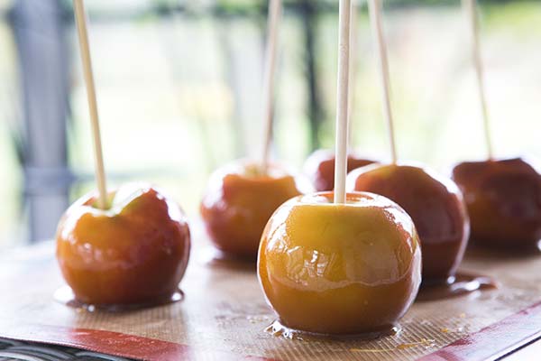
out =
[[472,241],[529,247],[541,240],[541,175],[520,158],[463,162],[453,179],[472,220]]

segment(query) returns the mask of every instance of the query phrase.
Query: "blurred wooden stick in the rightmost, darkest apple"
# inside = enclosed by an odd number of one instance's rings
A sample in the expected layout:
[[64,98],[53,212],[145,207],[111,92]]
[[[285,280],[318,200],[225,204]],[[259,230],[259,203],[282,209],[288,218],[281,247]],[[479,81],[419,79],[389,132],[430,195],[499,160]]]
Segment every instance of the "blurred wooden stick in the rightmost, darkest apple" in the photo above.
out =
[[477,76],[477,86],[479,91],[479,100],[481,102],[481,112],[484,126],[485,142],[489,159],[493,158],[491,124],[489,119],[489,110],[487,107],[487,98],[484,85],[484,71],[481,60],[481,46],[479,44],[479,22],[477,18],[477,4],[475,0],[463,0],[463,8],[470,23],[472,32],[472,60]]

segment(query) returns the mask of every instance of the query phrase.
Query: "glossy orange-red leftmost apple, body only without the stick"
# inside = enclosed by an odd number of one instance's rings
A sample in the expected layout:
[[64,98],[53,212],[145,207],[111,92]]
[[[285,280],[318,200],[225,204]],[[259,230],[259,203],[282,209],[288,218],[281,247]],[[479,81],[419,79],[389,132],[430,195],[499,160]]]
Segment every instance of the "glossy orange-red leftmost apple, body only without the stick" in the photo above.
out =
[[[147,305],[177,292],[190,251],[182,210],[158,190],[128,184],[112,208],[78,199],[60,219],[57,260],[78,301],[96,306]],[[118,199],[118,200],[117,200]]]

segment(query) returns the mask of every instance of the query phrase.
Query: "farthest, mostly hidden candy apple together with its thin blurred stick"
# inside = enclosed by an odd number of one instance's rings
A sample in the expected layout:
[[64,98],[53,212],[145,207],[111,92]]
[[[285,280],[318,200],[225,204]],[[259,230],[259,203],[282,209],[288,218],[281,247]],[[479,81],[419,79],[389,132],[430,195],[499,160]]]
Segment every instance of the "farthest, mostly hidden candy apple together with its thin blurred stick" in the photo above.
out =
[[[357,43],[357,11],[359,7],[359,1],[353,1],[353,12],[351,19],[351,51],[350,51],[350,75],[349,75],[349,106],[348,106],[348,125],[352,126],[352,114],[353,104],[355,99],[355,86],[354,86],[354,74],[355,74],[355,60],[357,49],[355,47]],[[352,142],[351,132],[349,133],[348,140]],[[351,147],[350,147],[351,148]],[[352,149],[348,150],[347,156],[347,171],[353,171],[354,169],[361,168],[365,165],[371,164],[373,161],[362,158],[358,154],[354,153]],[[305,162],[304,171],[312,181],[312,184],[317,191],[333,190],[335,188],[335,153],[326,149],[319,149],[316,152],[308,156]]]

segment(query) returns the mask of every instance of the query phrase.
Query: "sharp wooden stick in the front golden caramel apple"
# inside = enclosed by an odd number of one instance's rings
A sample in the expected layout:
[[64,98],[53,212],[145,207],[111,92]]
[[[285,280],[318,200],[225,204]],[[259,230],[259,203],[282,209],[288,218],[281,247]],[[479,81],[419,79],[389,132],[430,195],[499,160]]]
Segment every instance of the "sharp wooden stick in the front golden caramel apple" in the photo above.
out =
[[336,101],[335,203],[345,203],[350,72],[351,0],[340,0],[338,39],[338,92]]

